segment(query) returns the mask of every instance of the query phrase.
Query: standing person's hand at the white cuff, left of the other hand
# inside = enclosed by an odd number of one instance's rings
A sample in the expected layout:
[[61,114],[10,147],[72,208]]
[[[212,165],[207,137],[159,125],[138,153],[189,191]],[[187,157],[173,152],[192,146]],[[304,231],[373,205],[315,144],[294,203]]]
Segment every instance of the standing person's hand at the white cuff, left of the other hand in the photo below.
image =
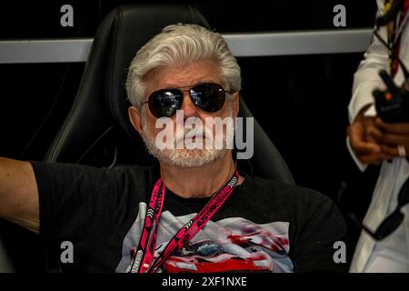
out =
[[[387,153],[391,148],[383,145],[374,138],[373,132],[378,133],[376,117],[364,116],[366,108],[356,116],[354,122],[348,126],[347,134],[350,145],[357,158],[364,164],[380,164],[384,160],[390,159]],[[380,137],[380,135],[376,135]],[[386,150],[384,152],[384,149]]]

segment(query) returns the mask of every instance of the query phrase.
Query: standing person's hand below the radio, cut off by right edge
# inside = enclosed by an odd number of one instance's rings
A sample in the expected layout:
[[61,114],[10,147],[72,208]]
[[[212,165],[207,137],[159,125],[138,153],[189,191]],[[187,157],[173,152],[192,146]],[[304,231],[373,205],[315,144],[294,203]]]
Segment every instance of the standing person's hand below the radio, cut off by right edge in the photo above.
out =
[[385,123],[376,117],[375,129],[369,134],[387,156],[400,156],[398,146],[404,146],[405,153],[409,153],[409,123]]

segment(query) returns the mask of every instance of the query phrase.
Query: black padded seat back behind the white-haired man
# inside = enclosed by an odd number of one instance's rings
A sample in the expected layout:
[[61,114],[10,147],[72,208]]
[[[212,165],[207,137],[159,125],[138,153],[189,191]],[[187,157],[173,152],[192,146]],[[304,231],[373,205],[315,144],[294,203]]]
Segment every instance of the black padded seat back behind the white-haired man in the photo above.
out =
[[[149,165],[155,159],[129,122],[125,92],[135,53],[166,25],[190,23],[210,28],[188,5],[124,5],[105,17],[95,35],[75,103],[45,161],[92,166]],[[253,116],[241,98],[241,116]],[[254,175],[294,183],[282,156],[254,121]]]

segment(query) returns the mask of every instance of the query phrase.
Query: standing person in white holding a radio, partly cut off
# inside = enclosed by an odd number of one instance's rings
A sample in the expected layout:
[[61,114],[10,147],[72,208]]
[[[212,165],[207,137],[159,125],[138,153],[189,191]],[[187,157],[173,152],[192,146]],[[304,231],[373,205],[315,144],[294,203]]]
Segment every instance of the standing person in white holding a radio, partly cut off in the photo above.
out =
[[409,272],[409,122],[382,120],[373,95],[374,89],[387,89],[379,75],[383,69],[399,88],[409,88],[409,1],[394,1],[377,0],[372,44],[354,74],[348,107],[347,146],[355,163],[362,171],[382,163],[350,272]]

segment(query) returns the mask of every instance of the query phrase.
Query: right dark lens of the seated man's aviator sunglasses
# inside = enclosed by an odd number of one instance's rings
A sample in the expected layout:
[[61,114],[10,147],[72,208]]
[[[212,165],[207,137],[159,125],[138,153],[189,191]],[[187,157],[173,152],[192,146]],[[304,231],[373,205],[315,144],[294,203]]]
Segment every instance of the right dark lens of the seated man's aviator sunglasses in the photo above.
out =
[[206,83],[195,85],[191,89],[190,95],[195,105],[207,112],[219,111],[224,105],[224,89],[218,84]]

